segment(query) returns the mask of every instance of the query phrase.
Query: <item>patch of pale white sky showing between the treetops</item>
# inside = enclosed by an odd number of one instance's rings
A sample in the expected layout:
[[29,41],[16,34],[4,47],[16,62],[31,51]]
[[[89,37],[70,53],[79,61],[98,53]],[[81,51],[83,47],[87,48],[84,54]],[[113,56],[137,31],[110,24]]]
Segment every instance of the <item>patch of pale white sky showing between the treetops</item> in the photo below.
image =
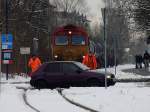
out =
[[86,0],[88,6],[90,7],[90,17],[89,19],[92,23],[100,23],[102,21],[101,8],[104,7],[103,0]]

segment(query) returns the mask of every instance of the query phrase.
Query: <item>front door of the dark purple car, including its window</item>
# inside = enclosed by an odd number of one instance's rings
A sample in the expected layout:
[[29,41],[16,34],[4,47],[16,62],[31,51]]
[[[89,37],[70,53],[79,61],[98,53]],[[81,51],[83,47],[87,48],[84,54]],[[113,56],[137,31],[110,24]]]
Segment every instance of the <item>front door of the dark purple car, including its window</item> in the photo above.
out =
[[82,73],[78,72],[81,69],[73,63],[63,63],[62,70],[66,81],[71,85],[76,85],[82,83],[84,76]]

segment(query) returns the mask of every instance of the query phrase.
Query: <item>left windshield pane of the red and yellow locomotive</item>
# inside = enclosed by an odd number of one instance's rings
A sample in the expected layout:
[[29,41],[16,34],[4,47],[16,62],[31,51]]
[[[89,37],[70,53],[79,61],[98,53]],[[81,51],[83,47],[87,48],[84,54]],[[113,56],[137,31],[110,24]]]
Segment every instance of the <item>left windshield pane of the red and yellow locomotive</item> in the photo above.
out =
[[56,45],[68,45],[67,36],[56,36],[55,44]]

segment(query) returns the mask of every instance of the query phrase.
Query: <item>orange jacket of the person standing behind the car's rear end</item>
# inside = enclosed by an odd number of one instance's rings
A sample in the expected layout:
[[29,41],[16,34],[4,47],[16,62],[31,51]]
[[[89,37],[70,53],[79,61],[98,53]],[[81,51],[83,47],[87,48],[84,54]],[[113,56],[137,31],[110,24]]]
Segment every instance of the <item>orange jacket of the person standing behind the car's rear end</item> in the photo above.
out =
[[32,55],[29,59],[28,66],[31,68],[31,72],[35,72],[41,65],[41,60],[38,56]]

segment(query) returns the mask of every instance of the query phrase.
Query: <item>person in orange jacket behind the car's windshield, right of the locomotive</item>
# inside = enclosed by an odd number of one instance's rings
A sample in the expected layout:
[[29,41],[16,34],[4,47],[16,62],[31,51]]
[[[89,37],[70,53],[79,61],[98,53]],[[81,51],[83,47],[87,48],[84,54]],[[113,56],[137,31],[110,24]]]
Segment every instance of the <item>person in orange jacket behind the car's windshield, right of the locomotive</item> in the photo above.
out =
[[91,51],[89,51],[89,53],[85,56],[85,58],[83,58],[82,63],[91,69],[97,68],[96,57]]

